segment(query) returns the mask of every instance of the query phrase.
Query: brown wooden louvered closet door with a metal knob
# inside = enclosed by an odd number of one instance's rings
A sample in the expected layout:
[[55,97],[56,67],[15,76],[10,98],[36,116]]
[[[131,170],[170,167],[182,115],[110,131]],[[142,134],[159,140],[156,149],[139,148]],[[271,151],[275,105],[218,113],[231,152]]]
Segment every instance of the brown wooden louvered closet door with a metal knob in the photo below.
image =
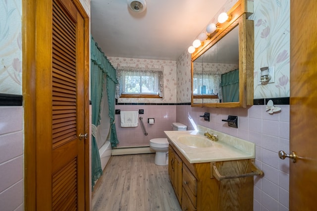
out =
[[50,3],[52,48],[47,46],[46,50],[52,50],[48,53],[51,71],[38,73],[47,80],[47,87],[43,87],[43,95],[47,96],[42,96],[41,101],[48,107],[42,108],[37,118],[50,122],[51,126],[41,128],[48,129],[42,132],[50,138],[42,137],[43,143],[38,146],[37,210],[84,210],[85,139],[79,138],[87,132],[84,131],[84,20],[72,1]]

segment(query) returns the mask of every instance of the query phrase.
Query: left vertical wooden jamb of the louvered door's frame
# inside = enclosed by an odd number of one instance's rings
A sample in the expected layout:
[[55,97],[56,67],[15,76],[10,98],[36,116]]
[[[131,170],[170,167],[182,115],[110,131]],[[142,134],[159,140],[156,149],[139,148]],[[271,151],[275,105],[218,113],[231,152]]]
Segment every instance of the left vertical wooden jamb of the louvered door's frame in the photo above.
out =
[[24,100],[24,209],[36,210],[35,143],[36,1],[22,0],[22,93]]

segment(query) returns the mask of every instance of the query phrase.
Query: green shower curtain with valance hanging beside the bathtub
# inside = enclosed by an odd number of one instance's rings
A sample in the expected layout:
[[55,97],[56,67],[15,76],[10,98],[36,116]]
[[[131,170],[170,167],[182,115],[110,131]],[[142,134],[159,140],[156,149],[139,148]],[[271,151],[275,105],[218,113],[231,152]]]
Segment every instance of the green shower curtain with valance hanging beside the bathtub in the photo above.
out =
[[[100,104],[103,93],[103,80],[106,74],[106,91],[109,105],[110,118],[110,143],[112,147],[116,147],[119,143],[115,124],[114,124],[114,101],[115,101],[115,86],[118,83],[116,79],[116,71],[111,65],[106,55],[93,38],[91,38],[91,102],[92,102],[92,124],[94,128],[100,124]],[[95,181],[103,174],[101,168],[100,155],[96,139],[92,136],[92,187]]]

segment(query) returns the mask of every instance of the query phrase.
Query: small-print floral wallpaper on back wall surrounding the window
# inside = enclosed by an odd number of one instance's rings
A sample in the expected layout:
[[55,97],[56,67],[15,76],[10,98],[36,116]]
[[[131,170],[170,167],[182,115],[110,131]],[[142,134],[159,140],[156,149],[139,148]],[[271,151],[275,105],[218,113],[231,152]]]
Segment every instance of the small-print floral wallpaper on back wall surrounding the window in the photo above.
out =
[[115,69],[118,65],[159,69],[163,67],[163,99],[119,98],[118,103],[176,103],[176,61],[122,57],[108,57],[108,59]]

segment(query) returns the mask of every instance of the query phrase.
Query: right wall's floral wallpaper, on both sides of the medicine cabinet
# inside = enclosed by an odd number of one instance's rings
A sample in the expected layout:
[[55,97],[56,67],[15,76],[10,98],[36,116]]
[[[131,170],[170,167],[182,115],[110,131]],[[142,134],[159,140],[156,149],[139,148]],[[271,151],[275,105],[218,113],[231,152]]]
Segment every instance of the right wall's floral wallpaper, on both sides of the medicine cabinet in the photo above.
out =
[[[235,2],[227,0],[210,22],[216,22],[218,14]],[[254,20],[254,99],[289,97],[289,8],[288,0],[254,0],[254,13],[249,17]],[[260,68],[265,66],[274,66],[275,83],[258,85]],[[177,61],[177,103],[191,101],[190,69],[191,54],[186,51]]]

